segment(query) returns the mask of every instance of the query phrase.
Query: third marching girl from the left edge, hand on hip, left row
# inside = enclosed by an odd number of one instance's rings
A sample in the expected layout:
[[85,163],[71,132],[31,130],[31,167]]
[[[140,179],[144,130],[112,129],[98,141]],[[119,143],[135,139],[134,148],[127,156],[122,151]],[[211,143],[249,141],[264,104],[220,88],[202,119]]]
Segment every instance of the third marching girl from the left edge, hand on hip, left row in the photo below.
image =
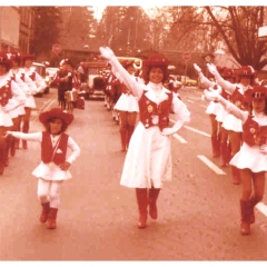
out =
[[[27,101],[24,106],[26,113],[23,115],[23,119],[22,119],[22,131],[27,134],[29,132],[29,129],[30,129],[31,110],[36,108],[36,101],[34,101],[33,95],[42,91],[47,87],[47,83],[41,78],[41,76],[36,71],[36,69],[32,67],[33,60],[36,59],[34,55],[28,55],[28,53],[22,55],[21,59],[22,59],[22,67],[24,69],[24,73],[27,73],[30,77],[30,79],[36,83],[36,89],[33,89],[32,86],[31,88],[29,86],[31,90],[31,95],[27,97]],[[22,147],[23,149],[28,148],[26,140],[22,140]]]

